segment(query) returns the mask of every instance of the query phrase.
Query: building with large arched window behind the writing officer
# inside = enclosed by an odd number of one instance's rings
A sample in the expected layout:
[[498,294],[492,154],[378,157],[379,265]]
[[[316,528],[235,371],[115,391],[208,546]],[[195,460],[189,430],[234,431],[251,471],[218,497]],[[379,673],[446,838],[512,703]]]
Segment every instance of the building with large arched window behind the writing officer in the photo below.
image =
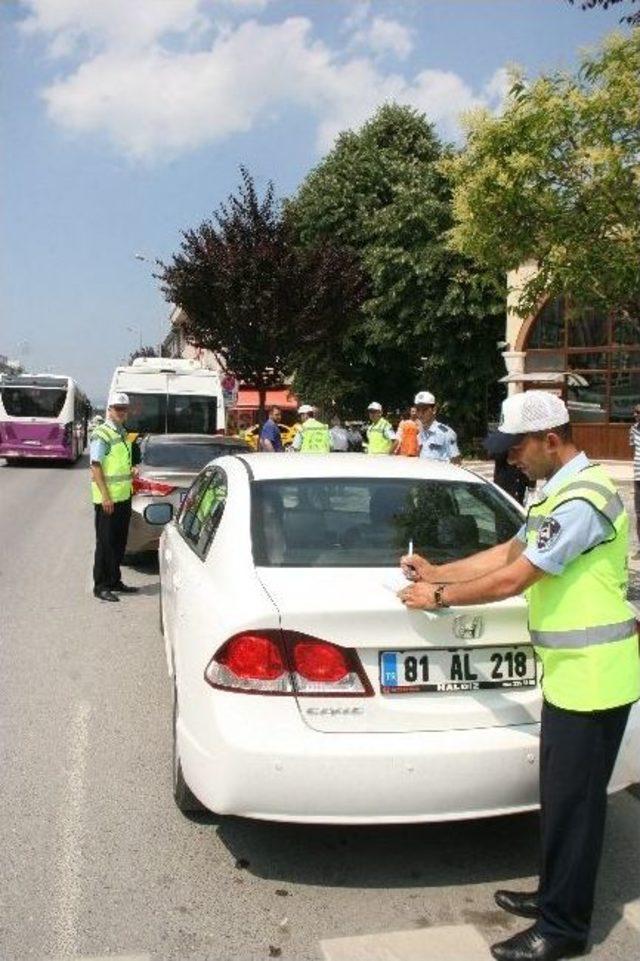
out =
[[629,427],[640,401],[640,318],[550,299],[528,317],[514,307],[528,264],[509,275],[507,349],[510,392],[552,390],[566,401],[580,447],[594,458],[631,457]]

